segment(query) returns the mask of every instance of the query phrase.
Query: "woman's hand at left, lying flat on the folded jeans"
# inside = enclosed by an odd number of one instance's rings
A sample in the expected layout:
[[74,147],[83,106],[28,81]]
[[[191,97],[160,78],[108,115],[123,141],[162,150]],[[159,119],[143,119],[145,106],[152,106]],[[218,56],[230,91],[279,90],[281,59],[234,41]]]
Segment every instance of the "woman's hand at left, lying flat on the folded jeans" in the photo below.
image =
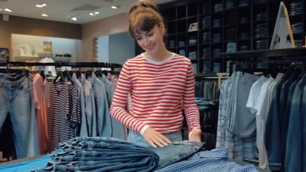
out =
[[153,147],[163,147],[170,143],[170,140],[167,137],[150,127],[144,131],[143,138]]

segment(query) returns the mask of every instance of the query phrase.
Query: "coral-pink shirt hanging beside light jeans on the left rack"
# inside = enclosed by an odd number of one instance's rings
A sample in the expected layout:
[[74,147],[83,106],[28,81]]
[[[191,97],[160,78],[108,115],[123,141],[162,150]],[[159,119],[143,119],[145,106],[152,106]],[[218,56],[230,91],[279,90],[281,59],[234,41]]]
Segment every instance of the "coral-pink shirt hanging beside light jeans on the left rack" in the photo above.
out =
[[34,104],[40,154],[48,152],[48,108],[50,85],[36,73],[33,77]]

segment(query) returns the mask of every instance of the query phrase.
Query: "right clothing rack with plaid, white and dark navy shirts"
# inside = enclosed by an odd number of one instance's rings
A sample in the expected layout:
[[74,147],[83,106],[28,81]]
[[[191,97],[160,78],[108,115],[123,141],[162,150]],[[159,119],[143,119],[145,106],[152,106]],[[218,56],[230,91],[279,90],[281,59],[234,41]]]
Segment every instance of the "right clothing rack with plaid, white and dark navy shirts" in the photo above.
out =
[[306,48],[222,55],[236,69],[221,84],[216,148],[264,169],[306,169]]

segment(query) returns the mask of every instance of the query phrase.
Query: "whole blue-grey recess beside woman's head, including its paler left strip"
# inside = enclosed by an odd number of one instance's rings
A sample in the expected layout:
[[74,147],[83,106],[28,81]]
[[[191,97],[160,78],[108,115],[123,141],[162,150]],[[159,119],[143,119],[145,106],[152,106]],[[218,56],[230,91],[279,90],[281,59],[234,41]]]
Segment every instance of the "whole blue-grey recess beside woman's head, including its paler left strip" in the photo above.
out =
[[124,64],[135,56],[135,41],[128,32],[98,37],[98,62]]

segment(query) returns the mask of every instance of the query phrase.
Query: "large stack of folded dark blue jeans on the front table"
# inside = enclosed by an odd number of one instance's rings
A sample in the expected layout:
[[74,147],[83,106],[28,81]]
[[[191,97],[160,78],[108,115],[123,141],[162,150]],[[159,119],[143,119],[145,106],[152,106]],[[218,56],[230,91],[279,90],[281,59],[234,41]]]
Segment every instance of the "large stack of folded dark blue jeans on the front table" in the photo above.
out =
[[163,164],[158,150],[111,137],[77,137],[59,143],[59,148],[61,152],[35,171],[153,171],[171,164]]

